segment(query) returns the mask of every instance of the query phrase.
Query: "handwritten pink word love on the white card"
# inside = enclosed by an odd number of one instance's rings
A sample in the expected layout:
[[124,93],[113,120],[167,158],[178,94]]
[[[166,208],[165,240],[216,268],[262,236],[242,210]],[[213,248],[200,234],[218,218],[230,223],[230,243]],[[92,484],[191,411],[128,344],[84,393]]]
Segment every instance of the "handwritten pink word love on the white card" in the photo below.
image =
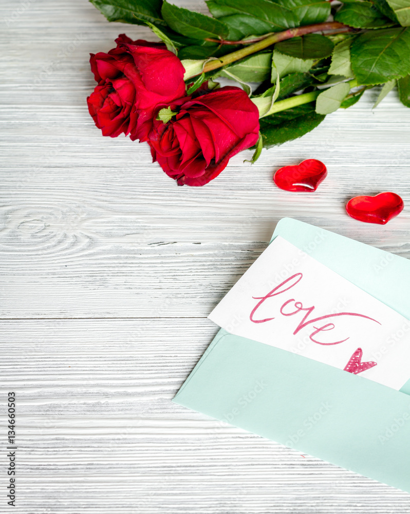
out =
[[[294,275],[292,275],[288,279],[284,280],[281,284],[279,284],[278,286],[273,288],[271,291],[269,291],[266,296],[263,296],[263,297],[252,297],[254,300],[259,300],[259,302],[252,309],[251,314],[249,316],[249,319],[253,323],[266,323],[267,321],[274,320],[275,318],[265,318],[265,319],[262,319],[262,320],[257,320],[257,319],[254,319],[254,316],[255,316],[255,313],[256,313],[257,309],[263,303],[265,303],[267,300],[269,300],[269,298],[273,298],[273,297],[275,297],[277,295],[282,295],[285,291],[288,291],[289,289],[294,287],[297,283],[299,283],[302,280],[302,278],[303,278],[303,273],[295,273]],[[289,312],[288,311],[288,305],[291,304],[292,302],[293,302],[293,305],[295,307],[295,310]],[[279,309],[279,312],[282,314],[282,316],[294,316],[294,315],[299,314],[299,313],[306,313],[304,315],[302,321],[296,326],[296,328],[295,328],[295,330],[293,332],[293,335],[297,334],[299,331],[302,330],[302,328],[305,328],[305,326],[311,325],[312,323],[317,323],[318,321],[323,321],[323,320],[329,320],[330,321],[331,318],[336,318],[337,316],[358,316],[360,318],[365,318],[365,319],[368,319],[370,321],[374,321],[375,323],[378,323],[379,325],[381,324],[381,323],[379,323],[377,320],[375,320],[373,318],[369,318],[368,316],[364,316],[363,314],[357,314],[357,313],[327,314],[325,316],[320,316],[319,318],[314,318],[314,319],[308,320],[309,316],[313,313],[314,308],[315,308],[314,305],[312,305],[311,307],[304,307],[301,302],[297,302],[297,301],[295,301],[294,298],[291,298],[289,300],[286,300],[286,302],[284,302],[282,304],[281,308]],[[314,343],[323,344],[325,346],[329,346],[329,345],[332,345],[332,344],[340,344],[340,343],[343,343],[344,341],[347,341],[349,339],[347,337],[346,339],[343,339],[341,341],[334,341],[332,343],[323,343],[321,341],[318,341],[318,340],[314,339],[314,336],[316,336],[316,334],[319,334],[320,332],[326,332],[326,331],[329,331],[329,330],[333,330],[334,327],[335,327],[335,325],[333,323],[331,323],[331,322],[330,323],[325,323],[324,325],[319,326],[319,327],[313,326],[314,331],[309,335],[309,338]]]

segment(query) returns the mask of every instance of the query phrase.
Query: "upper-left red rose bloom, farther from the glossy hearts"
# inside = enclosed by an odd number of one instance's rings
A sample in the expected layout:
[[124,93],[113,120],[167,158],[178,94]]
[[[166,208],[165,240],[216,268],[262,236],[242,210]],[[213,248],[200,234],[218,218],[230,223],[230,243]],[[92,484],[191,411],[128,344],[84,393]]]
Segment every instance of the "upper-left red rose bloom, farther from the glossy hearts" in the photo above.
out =
[[124,133],[145,141],[157,104],[185,96],[185,70],[162,43],[132,41],[125,34],[116,43],[108,53],[91,53],[98,85],[87,98],[88,110],[103,136]]

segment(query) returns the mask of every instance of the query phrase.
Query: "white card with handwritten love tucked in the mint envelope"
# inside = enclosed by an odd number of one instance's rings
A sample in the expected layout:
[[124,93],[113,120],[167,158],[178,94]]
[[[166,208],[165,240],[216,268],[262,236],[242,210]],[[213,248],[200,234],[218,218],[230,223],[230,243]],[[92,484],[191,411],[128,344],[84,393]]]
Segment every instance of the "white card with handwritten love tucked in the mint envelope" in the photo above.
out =
[[410,378],[410,321],[280,236],[209,318],[396,390]]

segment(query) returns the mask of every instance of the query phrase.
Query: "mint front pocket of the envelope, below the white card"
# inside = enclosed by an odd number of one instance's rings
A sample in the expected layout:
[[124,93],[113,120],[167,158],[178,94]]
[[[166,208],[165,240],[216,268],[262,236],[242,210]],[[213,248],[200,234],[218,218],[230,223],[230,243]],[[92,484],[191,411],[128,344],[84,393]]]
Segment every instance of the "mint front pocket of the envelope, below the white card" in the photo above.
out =
[[410,398],[221,330],[174,401],[410,490]]

